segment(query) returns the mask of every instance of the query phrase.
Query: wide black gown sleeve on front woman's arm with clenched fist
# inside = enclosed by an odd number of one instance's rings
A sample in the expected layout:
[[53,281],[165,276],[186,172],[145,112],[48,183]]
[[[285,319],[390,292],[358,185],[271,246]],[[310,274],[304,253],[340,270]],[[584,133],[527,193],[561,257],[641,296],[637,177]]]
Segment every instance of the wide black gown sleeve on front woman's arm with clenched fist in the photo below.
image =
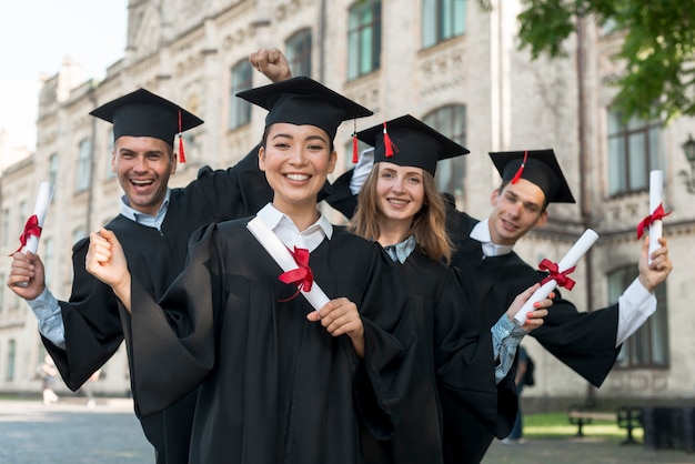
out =
[[132,280],[132,313],[122,312],[142,417],[175,403],[214,366],[213,304],[219,302],[212,279],[219,261],[214,231],[214,224],[203,226],[191,236],[188,264],[159,303],[138,279]]

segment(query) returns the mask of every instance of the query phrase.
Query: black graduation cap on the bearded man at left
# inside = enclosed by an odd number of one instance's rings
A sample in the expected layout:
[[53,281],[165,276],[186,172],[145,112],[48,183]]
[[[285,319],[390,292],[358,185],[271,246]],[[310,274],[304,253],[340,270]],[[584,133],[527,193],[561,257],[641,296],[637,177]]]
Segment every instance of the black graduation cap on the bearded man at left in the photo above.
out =
[[172,148],[178,133],[203,123],[177,103],[145,89],[104,103],[90,114],[113,123],[113,140],[121,135],[153,137]]

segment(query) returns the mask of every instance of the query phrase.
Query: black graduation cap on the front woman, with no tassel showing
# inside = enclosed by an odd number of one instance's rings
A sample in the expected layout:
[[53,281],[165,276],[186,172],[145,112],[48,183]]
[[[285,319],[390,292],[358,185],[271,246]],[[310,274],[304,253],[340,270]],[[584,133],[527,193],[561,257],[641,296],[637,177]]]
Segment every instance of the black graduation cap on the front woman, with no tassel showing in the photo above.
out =
[[269,111],[265,127],[276,122],[296,125],[315,125],[331,140],[341,122],[374,114],[372,111],[306,77],[244,90],[236,93],[253,104]]

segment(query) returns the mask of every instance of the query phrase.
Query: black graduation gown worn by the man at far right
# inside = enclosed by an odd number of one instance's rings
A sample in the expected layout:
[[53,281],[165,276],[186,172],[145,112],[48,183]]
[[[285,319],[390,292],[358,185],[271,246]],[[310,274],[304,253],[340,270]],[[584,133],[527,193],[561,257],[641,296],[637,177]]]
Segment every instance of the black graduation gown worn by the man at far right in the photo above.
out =
[[[483,259],[482,244],[470,238],[479,221],[451,205],[447,208],[446,221],[447,232],[455,246],[452,262],[461,271],[462,282],[467,288],[466,294],[472,306],[479,311],[481,324],[483,327],[492,327],[517,294],[540,282],[546,274],[531,268],[514,252]],[[593,312],[578,312],[571,302],[562,299],[557,290],[555,293],[557,295],[543,326],[532,331],[530,336],[594,386],[601,386],[620,352],[620,347],[615,347],[617,304]],[[511,424],[517,408],[514,375],[513,369],[503,381],[498,395],[498,412]],[[467,462],[480,462],[493,435],[466,415],[465,411],[453,420],[461,422],[462,427],[465,424],[467,432],[449,436],[449,446],[465,450],[470,456]]]

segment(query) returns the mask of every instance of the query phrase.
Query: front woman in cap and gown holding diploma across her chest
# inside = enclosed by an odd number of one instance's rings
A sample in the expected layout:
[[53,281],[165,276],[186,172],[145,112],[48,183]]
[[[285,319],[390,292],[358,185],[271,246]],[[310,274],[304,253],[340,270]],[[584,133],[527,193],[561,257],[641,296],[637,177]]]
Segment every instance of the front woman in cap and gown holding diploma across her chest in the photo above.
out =
[[[141,412],[199,386],[191,462],[356,464],[360,423],[377,438],[393,433],[415,342],[391,260],[316,209],[338,125],[371,112],[309,78],[240,97],[270,110],[259,162],[273,202],[255,218],[201,229],[159,303],[107,230],[91,235],[87,269],[131,312]],[[252,219],[286,246],[295,270],[276,264],[249,230]],[[320,311],[303,293],[314,285],[331,299]]]

